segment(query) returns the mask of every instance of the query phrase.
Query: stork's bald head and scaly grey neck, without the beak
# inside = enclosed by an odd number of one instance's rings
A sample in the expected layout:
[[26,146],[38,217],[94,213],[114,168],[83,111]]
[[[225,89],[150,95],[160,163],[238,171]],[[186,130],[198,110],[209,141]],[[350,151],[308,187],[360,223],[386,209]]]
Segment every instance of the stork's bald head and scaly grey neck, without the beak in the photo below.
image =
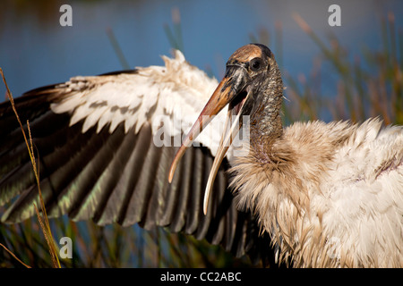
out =
[[253,139],[279,137],[282,131],[279,110],[283,82],[270,49],[261,44],[240,47],[228,59],[223,80],[226,78],[235,95],[229,102],[229,108],[239,104],[240,97],[247,96],[241,115],[250,116]]

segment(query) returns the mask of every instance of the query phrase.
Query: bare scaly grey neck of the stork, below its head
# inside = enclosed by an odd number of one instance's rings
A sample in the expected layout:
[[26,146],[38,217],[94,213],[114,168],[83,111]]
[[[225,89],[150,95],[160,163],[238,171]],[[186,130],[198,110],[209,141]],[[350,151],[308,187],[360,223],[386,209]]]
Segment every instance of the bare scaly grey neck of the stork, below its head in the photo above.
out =
[[283,101],[283,81],[276,62],[269,77],[258,92],[256,108],[251,115],[251,145],[270,146],[282,133],[280,108]]

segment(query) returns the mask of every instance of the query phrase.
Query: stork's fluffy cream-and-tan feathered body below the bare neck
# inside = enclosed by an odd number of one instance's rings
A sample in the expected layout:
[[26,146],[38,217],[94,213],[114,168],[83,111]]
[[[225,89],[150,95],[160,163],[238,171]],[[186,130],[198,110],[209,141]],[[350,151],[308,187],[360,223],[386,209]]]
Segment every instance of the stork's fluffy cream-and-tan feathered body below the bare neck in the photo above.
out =
[[377,120],[295,123],[236,157],[231,185],[303,267],[401,267],[403,135]]

